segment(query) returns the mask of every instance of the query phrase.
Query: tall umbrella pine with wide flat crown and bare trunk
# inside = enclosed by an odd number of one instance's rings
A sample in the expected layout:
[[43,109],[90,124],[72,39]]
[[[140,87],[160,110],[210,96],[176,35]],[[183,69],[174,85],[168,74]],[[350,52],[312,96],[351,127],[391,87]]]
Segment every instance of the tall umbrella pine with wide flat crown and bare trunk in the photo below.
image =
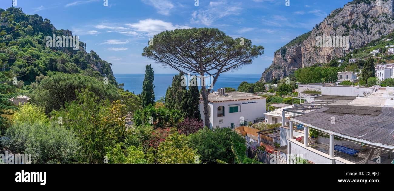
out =
[[[142,56],[163,67],[174,68],[182,74],[200,76],[204,106],[204,123],[209,127],[208,95],[221,73],[251,64],[264,53],[264,47],[252,45],[246,38],[232,38],[215,28],[191,28],[164,31],[149,41]],[[207,88],[209,76],[210,87]]]

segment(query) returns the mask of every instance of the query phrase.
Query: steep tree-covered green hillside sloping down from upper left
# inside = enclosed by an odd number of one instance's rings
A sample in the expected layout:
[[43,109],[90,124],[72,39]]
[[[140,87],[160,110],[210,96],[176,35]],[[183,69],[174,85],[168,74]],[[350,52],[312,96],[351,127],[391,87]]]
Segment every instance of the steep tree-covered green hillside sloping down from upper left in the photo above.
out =
[[[111,63],[101,60],[94,51],[87,53],[86,44],[79,42],[79,49],[73,47],[47,47],[46,37],[72,36],[69,30],[56,29],[49,19],[26,15],[21,8],[0,9],[3,35],[0,43],[0,68],[7,76],[16,77],[19,83],[29,85],[36,76],[52,72],[82,73],[83,75],[108,77],[108,82],[117,84],[113,77]],[[82,40],[82,39],[80,39]]]

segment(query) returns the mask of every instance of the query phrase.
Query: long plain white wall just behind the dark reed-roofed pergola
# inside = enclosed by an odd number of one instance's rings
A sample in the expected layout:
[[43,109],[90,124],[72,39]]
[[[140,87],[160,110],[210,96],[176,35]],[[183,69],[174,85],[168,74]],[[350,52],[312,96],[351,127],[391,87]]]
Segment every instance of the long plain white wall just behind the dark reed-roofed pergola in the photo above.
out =
[[322,95],[337,96],[364,96],[364,92],[371,92],[373,88],[357,87],[357,86],[325,86],[322,87]]

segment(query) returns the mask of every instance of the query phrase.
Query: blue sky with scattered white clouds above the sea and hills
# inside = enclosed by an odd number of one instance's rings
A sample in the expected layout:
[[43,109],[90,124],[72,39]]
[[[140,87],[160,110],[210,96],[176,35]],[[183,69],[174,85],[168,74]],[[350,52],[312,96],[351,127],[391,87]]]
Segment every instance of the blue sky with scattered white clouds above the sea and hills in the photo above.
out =
[[[235,73],[262,73],[273,53],[294,37],[310,31],[349,0],[17,0],[26,14],[48,18],[57,29],[69,29],[114,73],[177,73],[141,56],[154,34],[189,27],[214,27],[264,46],[264,55]],[[12,0],[1,0],[10,7]]]

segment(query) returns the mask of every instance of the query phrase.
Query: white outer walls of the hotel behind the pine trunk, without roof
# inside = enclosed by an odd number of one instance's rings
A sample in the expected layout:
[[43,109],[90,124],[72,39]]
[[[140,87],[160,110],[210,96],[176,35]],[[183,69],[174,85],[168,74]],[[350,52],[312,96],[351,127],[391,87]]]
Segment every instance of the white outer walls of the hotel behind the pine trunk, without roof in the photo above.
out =
[[[257,118],[264,117],[266,113],[266,98],[254,100],[241,100],[241,101],[229,101],[229,102],[210,102],[209,106],[211,108],[210,116],[210,128],[212,127],[230,127],[231,123],[234,123],[235,127],[240,124],[240,118],[243,117],[244,121],[253,122]],[[225,116],[217,116],[217,107],[225,107]],[[240,112],[230,113],[230,106],[240,106]],[[203,102],[200,102],[199,109],[201,113],[201,118],[204,120],[204,107]],[[223,119],[223,123],[219,124],[219,120]]]

